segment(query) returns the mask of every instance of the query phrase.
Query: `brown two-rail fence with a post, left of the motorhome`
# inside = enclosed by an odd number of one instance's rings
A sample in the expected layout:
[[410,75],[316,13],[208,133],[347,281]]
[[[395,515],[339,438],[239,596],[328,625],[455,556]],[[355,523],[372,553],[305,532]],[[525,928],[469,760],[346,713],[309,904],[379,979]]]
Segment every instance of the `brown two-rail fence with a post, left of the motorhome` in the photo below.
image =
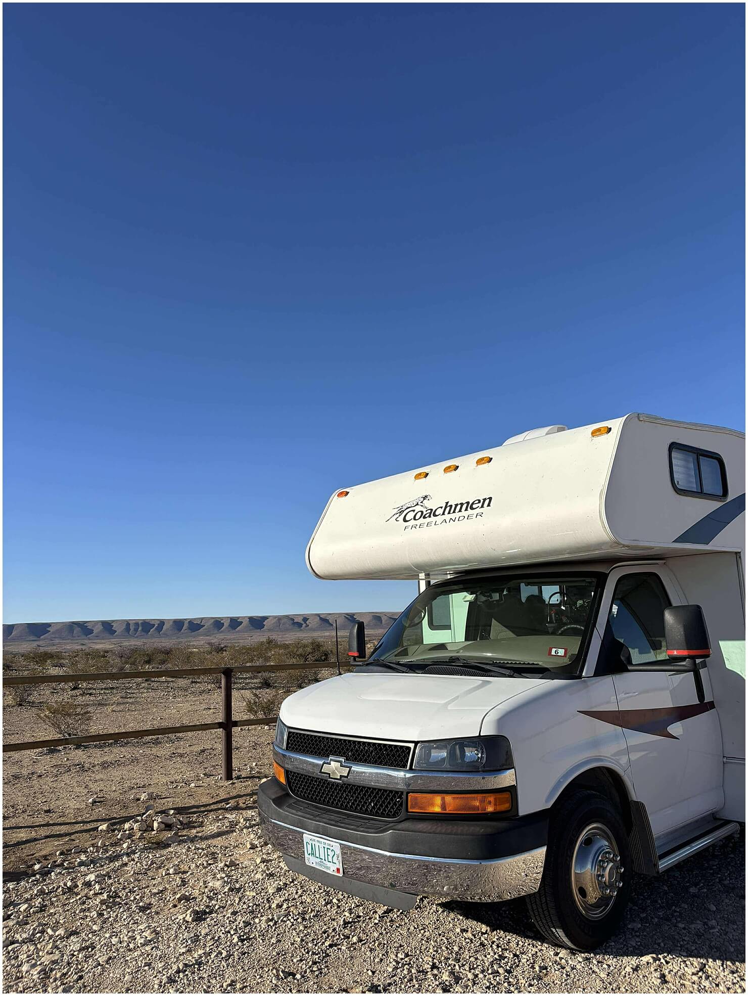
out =
[[[344,665],[346,666],[346,665]],[[230,782],[233,772],[233,731],[238,726],[267,726],[277,716],[263,719],[234,719],[232,706],[233,676],[235,672],[260,674],[266,671],[311,671],[338,669],[337,661],[320,661],[307,664],[238,664],[236,667],[179,667],[138,671],[93,671],[83,674],[17,674],[3,676],[3,685],[63,684],[83,681],[127,681],[143,678],[183,678],[216,674],[221,677],[221,719],[215,723],[186,723],[182,726],[156,726],[148,730],[124,730],[120,733],[92,733],[86,737],[55,737],[52,740],[26,740],[21,743],[3,744],[3,753],[36,750],[42,747],[66,747],[72,744],[103,743],[108,740],[136,740],[141,737],[162,737],[172,733],[193,733],[201,730],[221,731],[221,772],[224,782]]]

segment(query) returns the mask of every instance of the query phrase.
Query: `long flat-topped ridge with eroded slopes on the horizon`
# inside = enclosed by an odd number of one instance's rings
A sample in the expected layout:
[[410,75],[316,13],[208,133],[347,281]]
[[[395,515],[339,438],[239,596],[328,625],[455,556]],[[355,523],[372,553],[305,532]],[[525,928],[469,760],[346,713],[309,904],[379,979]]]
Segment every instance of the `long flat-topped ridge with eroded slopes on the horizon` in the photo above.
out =
[[[367,632],[381,634],[398,613],[312,613],[307,616],[202,616],[182,620],[97,620],[95,622],[11,622],[3,626],[3,642],[8,645],[65,643],[86,644],[120,640],[205,640],[248,642],[273,636],[275,639],[300,637],[346,637],[354,622],[364,622]],[[20,648],[20,647],[19,647]]]

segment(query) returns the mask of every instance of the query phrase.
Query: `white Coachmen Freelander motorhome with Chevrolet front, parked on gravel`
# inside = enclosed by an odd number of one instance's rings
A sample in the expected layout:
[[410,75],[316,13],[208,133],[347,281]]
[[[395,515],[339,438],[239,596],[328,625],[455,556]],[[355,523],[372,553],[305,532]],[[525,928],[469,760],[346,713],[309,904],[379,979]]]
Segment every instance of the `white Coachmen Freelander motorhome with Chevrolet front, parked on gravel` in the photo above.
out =
[[400,908],[525,895],[602,943],[631,871],[744,820],[744,510],[742,433],[641,414],[336,492],[310,571],[419,595],[283,703],[259,810],[289,868]]

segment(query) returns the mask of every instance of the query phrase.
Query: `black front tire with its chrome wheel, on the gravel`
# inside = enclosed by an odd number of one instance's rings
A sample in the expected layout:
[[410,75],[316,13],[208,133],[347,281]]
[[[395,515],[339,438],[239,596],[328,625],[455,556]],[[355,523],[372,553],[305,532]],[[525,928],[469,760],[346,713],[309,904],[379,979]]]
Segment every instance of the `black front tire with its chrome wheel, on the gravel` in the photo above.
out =
[[628,835],[607,796],[578,790],[551,815],[546,864],[527,896],[535,925],[554,944],[592,951],[619,928],[630,892]]

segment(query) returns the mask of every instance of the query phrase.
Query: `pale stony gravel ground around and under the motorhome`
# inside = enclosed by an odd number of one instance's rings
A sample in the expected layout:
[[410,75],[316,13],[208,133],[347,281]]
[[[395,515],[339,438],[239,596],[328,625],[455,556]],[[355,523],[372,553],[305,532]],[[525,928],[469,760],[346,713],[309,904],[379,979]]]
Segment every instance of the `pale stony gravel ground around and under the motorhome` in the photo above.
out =
[[[147,708],[169,721],[168,699]],[[634,876],[621,934],[575,954],[522,901],[400,912],[288,871],[257,827],[272,731],[237,735],[229,785],[217,737],[6,755],[6,992],[745,991],[742,838]]]

